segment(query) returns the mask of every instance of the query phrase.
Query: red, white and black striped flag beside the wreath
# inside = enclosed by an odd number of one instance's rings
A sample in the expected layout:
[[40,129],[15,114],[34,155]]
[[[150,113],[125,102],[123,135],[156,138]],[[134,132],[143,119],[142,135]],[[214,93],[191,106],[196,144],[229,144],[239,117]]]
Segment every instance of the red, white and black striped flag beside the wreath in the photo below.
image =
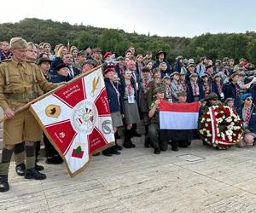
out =
[[193,140],[198,137],[199,103],[160,101],[160,138],[162,140]]

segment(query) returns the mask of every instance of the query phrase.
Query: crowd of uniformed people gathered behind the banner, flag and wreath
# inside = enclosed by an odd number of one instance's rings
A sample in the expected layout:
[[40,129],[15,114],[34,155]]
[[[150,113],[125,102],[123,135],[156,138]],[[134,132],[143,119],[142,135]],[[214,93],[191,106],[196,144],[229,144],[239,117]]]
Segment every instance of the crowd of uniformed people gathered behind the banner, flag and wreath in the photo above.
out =
[[[23,40],[22,42],[24,42]],[[119,151],[123,147],[128,149],[136,147],[132,138],[141,136],[137,132],[137,124],[140,123],[145,129],[144,147],[153,147],[155,154],[166,151],[168,144],[171,144],[173,151],[177,151],[178,147],[188,147],[191,143],[188,140],[162,141],[160,139],[159,104],[161,100],[173,103],[200,101],[201,111],[204,107],[216,104],[232,107],[241,116],[245,128],[240,147],[254,141],[256,134],[256,109],[254,106],[256,78],[254,75],[256,72],[253,64],[245,59],[240,59],[236,64],[235,60],[227,57],[215,61],[201,57],[199,61],[195,61],[193,58],[185,59],[179,55],[171,64],[166,60],[166,52],[162,50],[154,56],[150,51],[147,51],[145,55],[137,55],[136,49],[130,47],[123,55],[117,55],[111,49],[102,53],[102,50],[98,48],[77,49],[74,46],[67,47],[61,43],[56,45],[53,51],[51,44],[46,42],[39,44],[29,42],[20,48],[20,46],[15,46],[15,42],[16,40],[13,40],[10,45],[8,41],[0,43],[0,74],[3,78],[3,83],[0,79],[0,94],[2,94],[0,104],[3,110],[7,108],[3,104],[5,103],[3,100],[6,99],[4,97],[4,94],[7,93],[6,88],[9,86],[9,80],[13,81],[15,78],[15,76],[11,76],[9,68],[6,68],[8,66],[4,64],[10,60],[15,61],[19,55],[15,51],[19,49],[24,49],[27,63],[32,63],[41,70],[44,78],[51,83],[49,84],[51,88],[55,87],[56,83],[68,82],[81,73],[89,72],[92,68],[102,65],[116,141],[115,146],[102,151],[105,156],[120,154]],[[38,81],[36,78],[34,80]],[[26,94],[26,98],[32,100],[38,95],[42,95],[43,90],[49,90],[46,89],[46,86],[43,86],[45,88],[42,89],[42,86],[40,85],[41,89],[35,86],[30,93],[25,89],[20,94],[16,93],[11,97],[20,100],[21,96],[24,97]],[[10,91],[14,90],[10,89]],[[28,95],[30,96],[28,97]],[[4,115],[5,118],[14,116],[10,116],[10,112],[6,111],[4,111]],[[125,128],[122,146],[117,143],[117,139],[120,138],[118,131],[120,127]],[[6,143],[4,140],[3,142]],[[61,164],[62,158],[45,135],[43,141],[46,164]],[[36,142],[35,149],[35,162],[37,162],[40,141]],[[15,142],[17,174],[28,178],[44,179],[46,176],[38,172],[44,170],[44,167],[37,163],[34,164],[35,171],[27,174],[25,151],[26,157],[27,153],[32,156],[32,150],[29,150],[26,141]],[[8,163],[9,156],[12,154],[8,151],[4,152],[6,153],[3,154],[2,164]],[[30,166],[33,167],[31,164]],[[0,191],[7,189],[6,184],[4,185],[7,181],[3,173],[5,174],[6,170],[1,170],[0,167],[0,177],[2,176]]]

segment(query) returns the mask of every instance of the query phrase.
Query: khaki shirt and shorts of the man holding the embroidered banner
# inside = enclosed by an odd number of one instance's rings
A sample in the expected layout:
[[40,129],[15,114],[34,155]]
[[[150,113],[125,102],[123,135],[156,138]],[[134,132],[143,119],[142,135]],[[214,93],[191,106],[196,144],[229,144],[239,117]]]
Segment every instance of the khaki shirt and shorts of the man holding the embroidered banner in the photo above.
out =
[[[32,61],[4,60],[0,64],[0,106],[17,110],[45,92],[57,87],[49,83]],[[15,113],[3,123],[3,143],[15,145],[21,141],[40,141],[42,130],[28,109]]]

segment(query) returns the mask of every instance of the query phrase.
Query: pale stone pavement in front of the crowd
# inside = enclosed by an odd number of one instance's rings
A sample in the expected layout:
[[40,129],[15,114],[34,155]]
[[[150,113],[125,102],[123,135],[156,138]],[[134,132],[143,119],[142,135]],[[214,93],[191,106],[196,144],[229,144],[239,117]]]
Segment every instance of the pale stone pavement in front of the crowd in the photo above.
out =
[[256,212],[256,147],[216,151],[193,141],[155,155],[135,143],[119,156],[92,157],[74,178],[42,160],[48,178],[25,180],[12,162],[0,212]]

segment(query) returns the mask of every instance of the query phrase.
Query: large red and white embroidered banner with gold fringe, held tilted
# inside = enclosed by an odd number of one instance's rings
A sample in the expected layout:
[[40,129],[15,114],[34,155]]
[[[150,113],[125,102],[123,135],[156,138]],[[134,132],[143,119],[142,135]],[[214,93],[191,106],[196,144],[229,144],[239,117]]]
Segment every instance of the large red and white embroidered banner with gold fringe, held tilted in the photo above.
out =
[[92,153],[114,145],[102,68],[73,80],[32,104],[30,110],[70,176],[84,170]]

